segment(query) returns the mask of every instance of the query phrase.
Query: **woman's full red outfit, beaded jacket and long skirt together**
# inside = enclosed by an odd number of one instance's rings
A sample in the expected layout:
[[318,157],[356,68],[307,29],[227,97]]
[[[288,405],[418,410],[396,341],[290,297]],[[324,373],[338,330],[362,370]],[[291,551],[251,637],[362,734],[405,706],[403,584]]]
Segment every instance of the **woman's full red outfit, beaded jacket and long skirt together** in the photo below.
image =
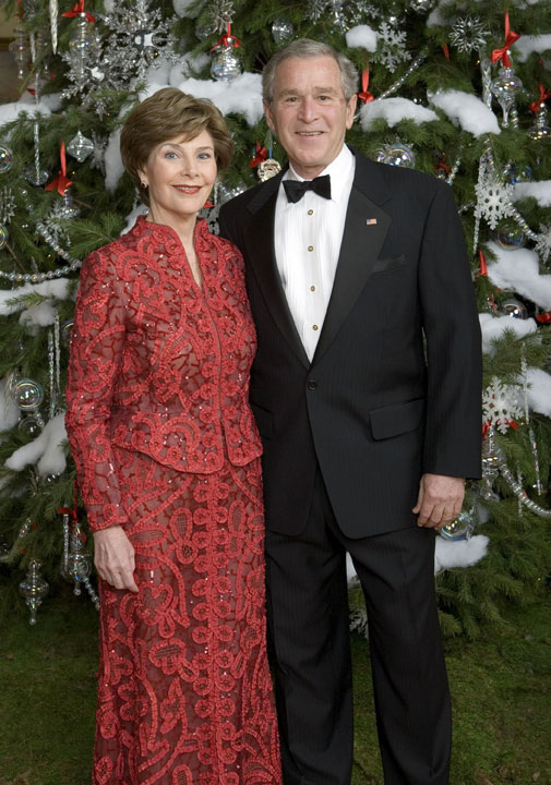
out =
[[231,243],[140,218],[84,263],[67,430],[92,530],[119,524],[137,594],[99,581],[96,785],[279,785],[265,649],[255,334]]

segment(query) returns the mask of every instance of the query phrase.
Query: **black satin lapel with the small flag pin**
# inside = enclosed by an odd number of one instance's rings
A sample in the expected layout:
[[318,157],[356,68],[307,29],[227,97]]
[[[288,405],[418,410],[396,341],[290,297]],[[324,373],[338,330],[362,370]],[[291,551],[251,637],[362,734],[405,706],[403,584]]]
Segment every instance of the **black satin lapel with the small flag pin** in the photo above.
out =
[[[384,202],[391,196],[387,194],[386,185],[382,183],[381,186],[378,201]],[[366,286],[391,222],[391,216],[363,193],[355,179],[333,291],[313,363],[318,362],[328,349]]]

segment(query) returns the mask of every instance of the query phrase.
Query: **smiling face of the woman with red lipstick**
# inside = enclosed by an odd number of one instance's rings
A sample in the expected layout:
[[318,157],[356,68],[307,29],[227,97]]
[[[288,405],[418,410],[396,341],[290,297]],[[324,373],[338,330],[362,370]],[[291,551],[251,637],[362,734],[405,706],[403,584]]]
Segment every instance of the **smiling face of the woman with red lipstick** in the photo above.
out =
[[139,172],[149,189],[149,213],[157,224],[176,227],[195,216],[216,179],[214,142],[208,131],[187,142],[181,136],[154,147]]

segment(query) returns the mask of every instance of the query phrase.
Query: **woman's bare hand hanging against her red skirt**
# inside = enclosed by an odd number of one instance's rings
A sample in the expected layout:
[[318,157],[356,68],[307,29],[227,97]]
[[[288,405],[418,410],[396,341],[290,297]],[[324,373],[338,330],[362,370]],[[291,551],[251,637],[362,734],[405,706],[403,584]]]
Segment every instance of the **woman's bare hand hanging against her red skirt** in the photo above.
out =
[[136,592],[134,548],[122,527],[94,532],[94,564],[97,572],[115,589]]

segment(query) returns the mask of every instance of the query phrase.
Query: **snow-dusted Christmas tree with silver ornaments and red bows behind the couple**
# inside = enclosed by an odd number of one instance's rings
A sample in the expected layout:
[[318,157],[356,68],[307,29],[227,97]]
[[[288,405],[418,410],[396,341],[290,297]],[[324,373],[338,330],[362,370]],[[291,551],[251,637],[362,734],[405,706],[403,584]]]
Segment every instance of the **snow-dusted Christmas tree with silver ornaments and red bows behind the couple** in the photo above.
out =
[[263,120],[260,73],[299,37],[357,64],[348,142],[446,180],[471,253],[483,479],[439,538],[444,631],[475,636],[510,597],[540,591],[551,564],[551,0],[1,5],[21,20],[11,47],[21,99],[0,106],[3,612],[19,588],[34,616],[62,578],[97,602],[63,389],[82,259],[142,212],[118,153],[125,114],[166,85],[220,108],[236,153],[212,196],[215,227],[217,206],[285,162]]

